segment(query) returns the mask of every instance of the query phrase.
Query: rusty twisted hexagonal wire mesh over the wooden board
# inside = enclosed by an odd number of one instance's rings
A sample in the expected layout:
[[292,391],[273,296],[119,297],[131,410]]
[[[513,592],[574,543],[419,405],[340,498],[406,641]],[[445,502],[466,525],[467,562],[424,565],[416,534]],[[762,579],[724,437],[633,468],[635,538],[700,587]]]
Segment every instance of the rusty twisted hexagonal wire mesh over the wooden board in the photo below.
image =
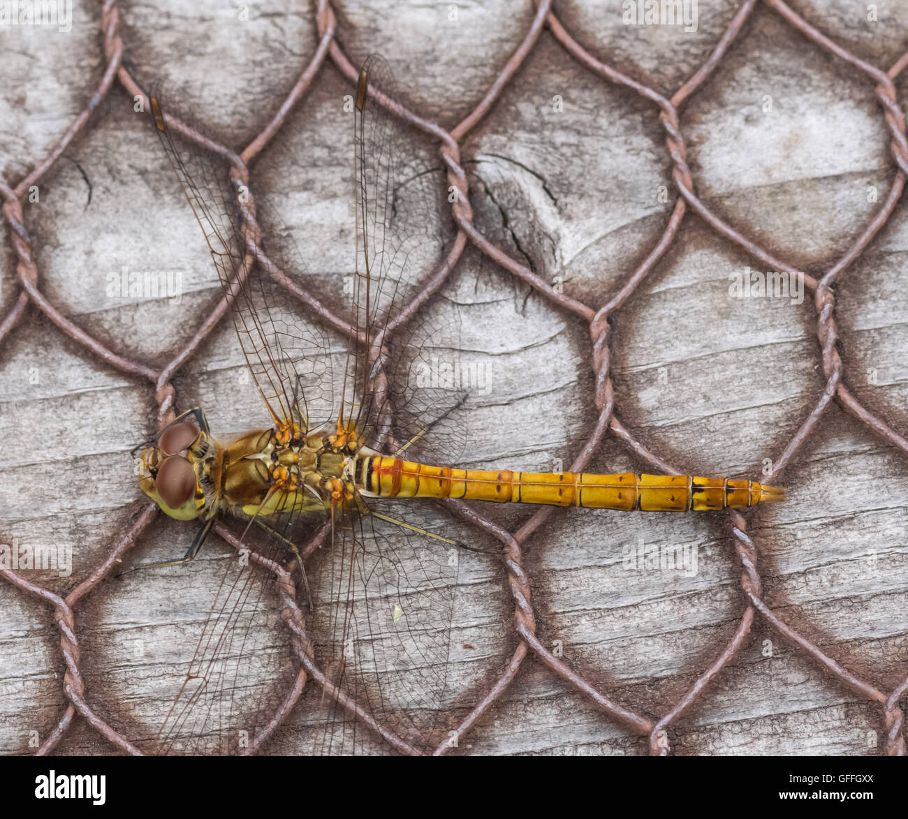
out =
[[[538,11],[532,25],[523,37],[517,50],[511,54],[507,62],[501,67],[495,82],[491,84],[488,92],[481,99],[475,109],[469,113],[462,122],[453,128],[445,129],[437,123],[429,122],[400,108],[397,111],[407,123],[426,133],[438,143],[440,156],[445,164],[449,184],[459,191],[458,201],[451,205],[451,216],[458,228],[457,241],[449,254],[447,263],[436,271],[433,277],[426,282],[423,297],[428,297],[438,291],[446,281],[450,272],[458,265],[461,254],[468,246],[468,242],[475,245],[481,252],[495,261],[501,268],[508,271],[518,279],[528,282],[536,291],[576,317],[577,321],[588,325],[591,341],[591,364],[595,373],[595,403],[598,418],[595,429],[582,448],[577,452],[576,459],[570,468],[573,471],[582,471],[594,456],[601,441],[610,432],[620,439],[632,451],[637,459],[644,461],[653,469],[664,472],[678,472],[665,459],[656,452],[650,451],[640,443],[627,427],[617,417],[616,395],[611,378],[611,351],[609,349],[609,319],[620,311],[632,294],[637,291],[645,281],[647,274],[662,259],[666,251],[675,242],[676,235],[688,211],[696,213],[701,220],[706,222],[714,231],[724,236],[730,242],[749,253],[775,271],[795,273],[795,267],[784,260],[776,258],[774,254],[765,250],[753,239],[743,235],[716,215],[697,196],[695,180],[686,161],[686,144],[684,133],[679,126],[679,109],[686,101],[696,94],[697,90],[705,83],[716,66],[721,63],[729,48],[735,43],[757,5],[757,0],[745,0],[734,15],[725,34],[716,43],[706,62],[693,74],[670,98],[657,93],[653,88],[631,79],[622,74],[611,65],[601,62],[590,54],[562,25],[558,16],[553,12],[551,4],[542,2],[538,4]],[[888,69],[880,69],[864,62],[860,57],[852,54],[840,44],[825,36],[820,30],[808,23],[804,18],[795,13],[782,0],[765,0],[787,25],[792,26],[804,38],[818,46],[838,60],[844,61],[854,67],[856,72],[864,74],[875,84],[874,94],[882,108],[886,126],[891,134],[890,150],[893,163],[897,166],[889,192],[885,196],[879,210],[873,219],[864,227],[863,232],[857,237],[853,245],[844,255],[828,266],[822,275],[805,277],[807,290],[813,296],[815,308],[816,336],[819,341],[820,357],[825,378],[825,388],[822,393],[814,398],[810,411],[800,419],[800,427],[796,434],[785,446],[782,454],[775,459],[771,474],[763,480],[766,483],[785,483],[784,472],[786,466],[795,457],[804,442],[814,435],[819,428],[824,412],[833,402],[838,402],[842,408],[854,419],[873,430],[888,444],[908,456],[908,440],[904,439],[895,430],[891,429],[878,415],[866,409],[858,400],[853,390],[844,383],[843,360],[837,347],[837,329],[835,321],[835,293],[833,285],[848,270],[854,260],[868,247],[873,238],[889,220],[903,192],[903,187],[908,174],[908,139],[905,136],[905,121],[902,108],[897,99],[894,79],[904,67],[908,65],[908,53],[904,54],[895,64]],[[252,142],[239,153],[232,153],[232,149],[214,143],[209,135],[193,134],[207,149],[215,150],[229,156],[233,173],[239,175],[244,183],[249,183],[247,166],[252,160],[268,146],[272,137],[281,129],[288,114],[306,96],[313,82],[316,81],[323,66],[329,60],[355,83],[356,69],[341,50],[338,43],[338,24],[328,0],[321,0],[317,10],[317,23],[320,40],[311,61],[306,64],[290,94],[283,100],[267,127],[259,133]],[[119,83],[131,97],[143,94],[142,89],[136,84],[133,76],[123,65],[125,46],[121,39],[121,13],[114,0],[104,3],[103,18],[104,54],[106,65],[104,75],[98,84],[96,92],[88,106],[82,111],[69,127],[60,140],[35,168],[18,183],[0,182],[0,192],[3,193],[5,203],[3,212],[6,223],[10,228],[10,236],[17,257],[17,281],[20,291],[12,306],[5,308],[5,314],[0,322],[0,341],[15,331],[17,325],[23,321],[29,302],[32,310],[41,311],[53,321],[54,325],[71,339],[83,345],[97,359],[116,370],[121,370],[138,379],[150,381],[154,385],[155,397],[158,402],[158,416],[160,422],[173,418],[174,390],[172,379],[183,363],[192,357],[198,350],[202,341],[212,332],[213,328],[222,320],[227,310],[227,303],[220,301],[215,309],[205,318],[195,333],[192,340],[183,350],[174,356],[173,360],[161,371],[156,371],[140,360],[130,359],[115,350],[109,349],[101,342],[81,329],[73,321],[68,320],[63,312],[44,295],[40,284],[39,270],[35,264],[32,233],[25,225],[22,200],[29,187],[37,183],[53,167],[64,154],[67,147],[84,132],[89,123],[96,123],[93,113],[104,97],[109,94],[114,84]],[[664,232],[650,249],[646,259],[637,266],[636,270],[627,273],[627,279],[617,294],[604,305],[590,306],[577,301],[567,294],[556,291],[543,278],[528,267],[515,261],[508,254],[501,251],[495,244],[477,230],[473,223],[473,212],[470,207],[470,195],[467,174],[461,162],[459,146],[465,136],[489,112],[498,100],[503,89],[516,74],[528,54],[538,42],[540,33],[548,27],[555,40],[570,54],[577,63],[584,66],[592,74],[596,74],[604,82],[627,86],[646,101],[656,106],[659,111],[659,121],[665,129],[666,148],[673,163],[673,180],[676,186],[677,198]],[[411,305],[405,310],[415,310],[416,305]],[[340,331],[345,331],[347,325],[342,318],[336,316],[325,305],[316,301],[311,296],[306,296],[304,309],[317,312],[324,321]],[[681,715],[690,708],[698,696],[709,686],[717,676],[723,673],[732,659],[738,654],[751,633],[755,619],[762,617],[765,624],[775,629],[785,640],[797,648],[817,666],[825,676],[834,679],[842,686],[847,687],[860,698],[876,704],[880,711],[880,720],[884,733],[883,751],[887,755],[905,754],[905,737],[903,732],[904,715],[899,705],[900,699],[908,691],[908,678],[901,685],[895,686],[891,691],[880,690],[872,680],[857,676],[847,668],[841,666],[832,657],[824,653],[810,639],[798,633],[789,626],[785,620],[778,616],[765,603],[763,584],[759,570],[759,554],[757,544],[748,535],[747,521],[743,515],[734,510],[729,510],[727,518],[728,535],[735,546],[735,553],[742,570],[740,587],[745,598],[744,610],[740,613],[734,636],[724,646],[716,646],[716,658],[705,672],[696,678],[696,682],[677,699],[674,706],[657,719],[651,719],[633,710],[622,706],[612,699],[607,691],[599,690],[584,676],[580,676],[558,656],[555,656],[546,646],[542,645],[537,636],[537,621],[532,607],[530,577],[523,567],[522,549],[534,533],[548,520],[553,513],[552,508],[543,508],[536,512],[517,531],[508,531],[488,518],[484,518],[476,508],[460,502],[452,502],[452,508],[472,525],[485,529],[491,536],[498,538],[504,547],[505,560],[508,570],[508,586],[514,602],[513,625],[518,635],[518,646],[511,656],[507,666],[498,676],[494,685],[473,706],[469,715],[463,719],[458,728],[458,736],[467,735],[470,729],[478,723],[480,718],[494,708],[498,699],[508,689],[520,671],[521,664],[529,653],[538,657],[542,665],[548,667],[551,674],[566,681],[570,686],[586,696],[595,704],[607,718],[623,725],[628,732],[643,735],[648,738],[650,753],[653,755],[666,755],[670,745],[666,739],[666,728],[672,725]],[[130,738],[121,735],[111,725],[99,716],[92,706],[93,692],[85,685],[83,676],[83,656],[79,643],[79,627],[76,619],[76,610],[85,597],[89,596],[98,587],[105,577],[114,570],[123,555],[133,548],[142,537],[153,519],[157,515],[157,508],[148,503],[128,531],[115,540],[106,558],[92,571],[81,579],[81,582],[69,592],[66,597],[60,597],[49,589],[31,582],[25,577],[9,568],[0,569],[5,580],[22,589],[28,595],[44,601],[52,610],[54,622],[60,635],[60,651],[64,658],[65,675],[63,679],[64,695],[68,700],[64,713],[59,715],[57,724],[51,735],[44,738],[43,744],[38,749],[39,754],[47,754],[54,750],[61,739],[73,724],[74,717],[81,715],[98,734],[103,735],[115,748],[130,754],[139,754],[139,749],[133,745]],[[219,528],[219,533],[232,545],[236,545],[235,535],[227,528]],[[314,548],[311,546],[311,548]],[[286,614],[285,624],[290,633],[290,639],[296,649],[296,656],[300,660],[299,673],[293,685],[286,691],[283,705],[275,716],[270,729],[257,736],[252,751],[266,742],[273,731],[290,715],[293,706],[301,696],[307,678],[314,676],[316,681],[321,680],[321,672],[311,660],[311,651],[305,631],[305,620],[301,608],[297,605],[293,593],[293,584],[288,573],[278,566],[271,566],[276,577],[276,587],[281,603]],[[360,715],[367,722],[369,715]],[[373,729],[381,732],[380,725],[372,725]],[[444,754],[449,749],[446,743],[437,748],[437,754]],[[403,747],[399,750],[406,751]]]

